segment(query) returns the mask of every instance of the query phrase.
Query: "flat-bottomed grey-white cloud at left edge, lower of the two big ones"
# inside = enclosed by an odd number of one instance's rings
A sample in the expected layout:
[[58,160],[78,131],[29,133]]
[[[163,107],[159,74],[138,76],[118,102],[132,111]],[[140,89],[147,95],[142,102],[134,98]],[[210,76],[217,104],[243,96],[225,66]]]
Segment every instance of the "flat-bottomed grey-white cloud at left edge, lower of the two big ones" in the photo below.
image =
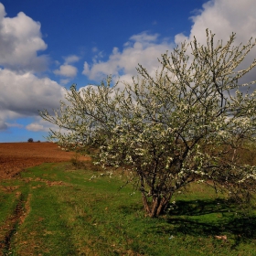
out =
[[64,90],[56,81],[32,73],[0,69],[0,118],[37,115],[37,110],[59,106]]

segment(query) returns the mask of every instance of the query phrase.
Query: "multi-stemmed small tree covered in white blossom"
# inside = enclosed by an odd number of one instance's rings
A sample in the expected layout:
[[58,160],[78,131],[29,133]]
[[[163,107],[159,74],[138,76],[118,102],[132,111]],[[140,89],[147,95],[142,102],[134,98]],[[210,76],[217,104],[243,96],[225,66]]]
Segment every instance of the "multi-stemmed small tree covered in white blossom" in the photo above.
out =
[[256,167],[240,161],[240,148],[256,138],[256,92],[243,92],[254,81],[239,80],[256,61],[235,69],[255,43],[234,47],[234,38],[215,45],[207,30],[206,46],[195,38],[162,55],[155,77],[139,65],[137,79],[124,82],[124,90],[111,86],[111,77],[80,91],[71,86],[68,103],[62,101],[54,116],[40,112],[60,128],[49,139],[72,150],[97,147],[99,164],[129,170],[152,218],[194,181],[247,195]]

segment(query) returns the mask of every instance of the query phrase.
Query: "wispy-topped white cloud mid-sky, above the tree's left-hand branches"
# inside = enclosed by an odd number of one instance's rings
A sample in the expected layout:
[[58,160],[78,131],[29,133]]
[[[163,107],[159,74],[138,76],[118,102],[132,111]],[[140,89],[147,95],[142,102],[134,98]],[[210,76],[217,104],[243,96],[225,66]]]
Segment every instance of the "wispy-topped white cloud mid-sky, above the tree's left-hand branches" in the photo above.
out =
[[157,58],[166,50],[172,50],[173,44],[167,40],[158,43],[158,35],[150,35],[143,32],[130,37],[129,41],[123,45],[123,50],[113,48],[112,54],[107,61],[93,59],[90,65],[84,62],[82,73],[91,80],[101,80],[106,75],[113,77],[133,76],[136,74],[138,63],[142,64],[149,72],[155,72],[159,62]]

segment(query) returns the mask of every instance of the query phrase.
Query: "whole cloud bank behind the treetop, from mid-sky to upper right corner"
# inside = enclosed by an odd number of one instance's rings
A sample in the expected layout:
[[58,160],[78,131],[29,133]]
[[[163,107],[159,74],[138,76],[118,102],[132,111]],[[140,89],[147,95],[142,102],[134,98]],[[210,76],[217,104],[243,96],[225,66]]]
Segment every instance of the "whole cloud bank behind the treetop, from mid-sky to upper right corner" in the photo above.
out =
[[[159,63],[157,58],[166,50],[171,51],[176,44],[184,40],[191,41],[194,36],[197,41],[205,44],[206,28],[216,34],[216,40],[223,39],[225,43],[232,32],[236,32],[236,43],[247,43],[251,37],[256,37],[256,1],[255,0],[211,0],[197,11],[197,15],[190,17],[193,26],[189,36],[177,34],[175,42],[161,40],[159,35],[143,32],[130,37],[123,45],[123,49],[113,48],[112,54],[106,61],[100,58],[92,59],[92,62],[84,62],[82,73],[91,80],[102,80],[106,75],[112,74],[121,80],[136,75],[135,67],[142,64],[150,74],[154,74]],[[250,55],[243,62],[243,67],[248,66],[256,56],[256,48],[251,50]],[[241,68],[243,68],[241,67]],[[255,75],[251,72],[251,78]]]

